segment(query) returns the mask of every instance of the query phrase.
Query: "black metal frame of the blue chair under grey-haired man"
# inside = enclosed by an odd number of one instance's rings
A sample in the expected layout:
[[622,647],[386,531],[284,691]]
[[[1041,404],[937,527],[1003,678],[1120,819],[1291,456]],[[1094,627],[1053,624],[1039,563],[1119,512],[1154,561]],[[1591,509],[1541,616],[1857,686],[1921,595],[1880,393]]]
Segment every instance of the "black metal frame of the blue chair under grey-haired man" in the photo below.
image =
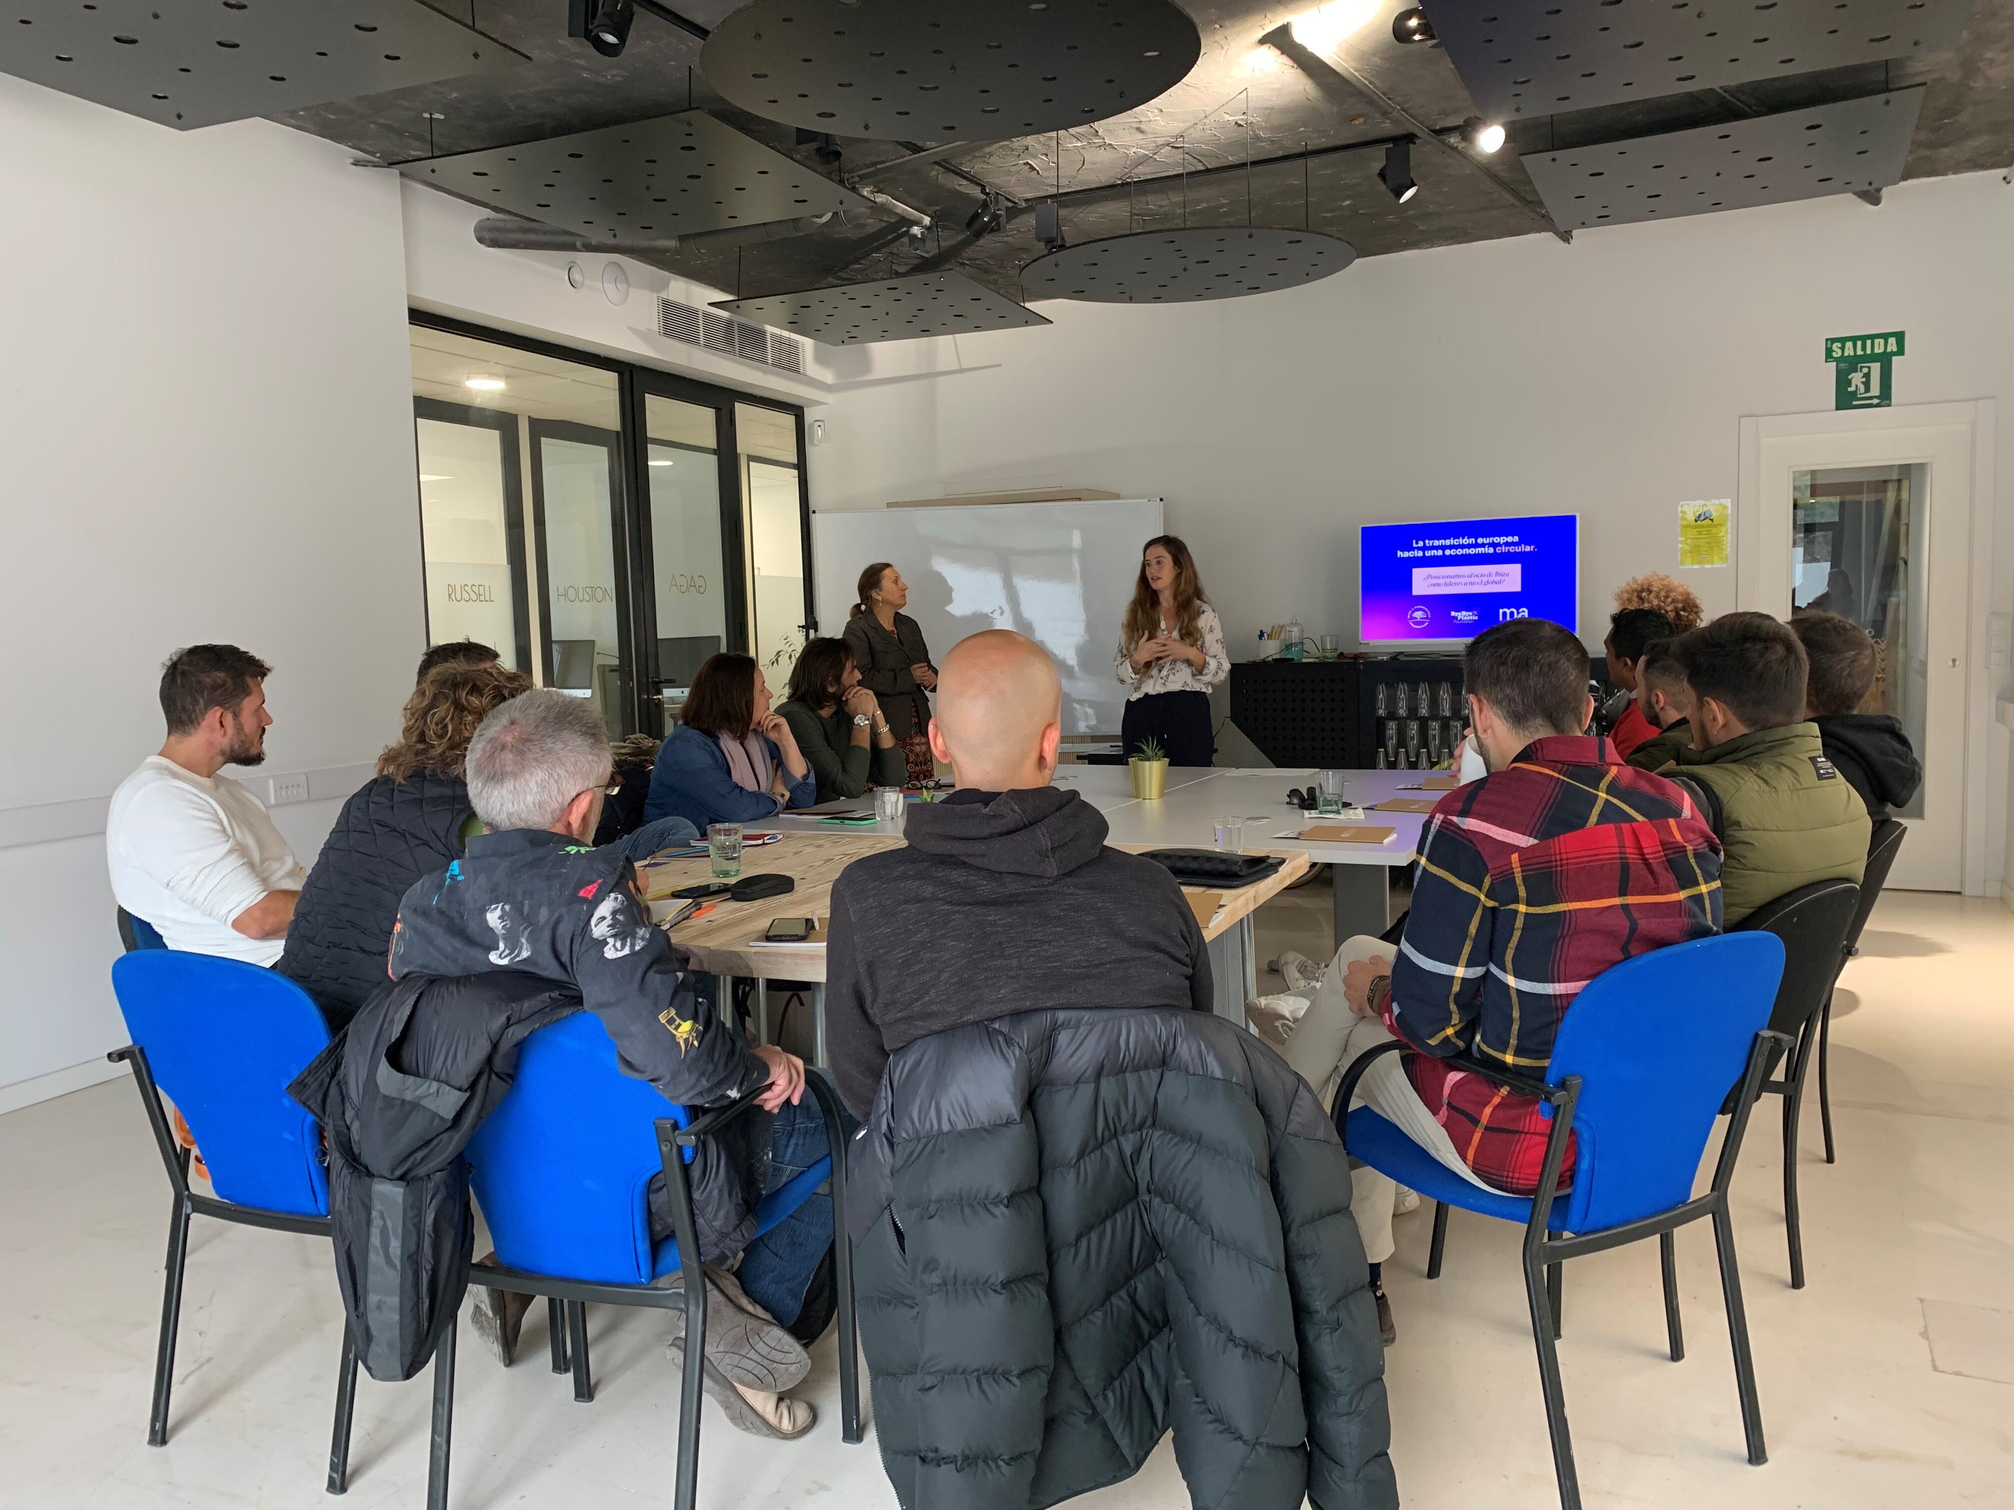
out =
[[[854,1260],[846,1238],[846,1134],[840,1125],[838,1093],[818,1075],[804,1077],[806,1089],[818,1097],[826,1123],[826,1148],[832,1154],[832,1246],[834,1280],[838,1285],[840,1325],[840,1429],[848,1444],[864,1440],[860,1423],[860,1345],[854,1323]],[[552,1333],[552,1371],[574,1373],[574,1399],[594,1399],[588,1363],[588,1303],[632,1305],[657,1311],[685,1311],[685,1369],[679,1379],[679,1466],[673,1484],[673,1508],[695,1510],[699,1496],[699,1409],[703,1391],[705,1349],[691,1339],[707,1335],[707,1287],[699,1258],[699,1228],[693,1220],[693,1192],[685,1176],[685,1150],[719,1131],[745,1113],[761,1091],[749,1091],[739,1101],[715,1107],[681,1127],[671,1117],[657,1123],[657,1150],[665,1162],[665,1186],[671,1192],[673,1232],[679,1238],[681,1289],[651,1285],[604,1285],[594,1280],[556,1278],[524,1268],[481,1268],[471,1282],[493,1291],[546,1297],[546,1319]],[[324,1224],[326,1226],[326,1224]],[[564,1325],[562,1325],[564,1307]],[[455,1329],[451,1321],[441,1333],[433,1359],[433,1431],[427,1460],[427,1510],[447,1510],[447,1468],[455,1413]],[[568,1345],[570,1343],[570,1345]]]

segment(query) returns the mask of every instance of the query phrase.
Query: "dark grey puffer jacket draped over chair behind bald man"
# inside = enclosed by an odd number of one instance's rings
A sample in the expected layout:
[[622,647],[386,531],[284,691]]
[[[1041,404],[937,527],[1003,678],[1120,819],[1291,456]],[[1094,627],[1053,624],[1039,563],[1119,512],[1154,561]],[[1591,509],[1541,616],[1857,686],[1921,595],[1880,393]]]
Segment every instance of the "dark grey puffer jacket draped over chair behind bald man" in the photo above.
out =
[[848,1218],[904,1510],[1037,1510],[1172,1427],[1198,1510],[1390,1510],[1349,1160],[1235,1025],[1075,1009],[888,1063]]

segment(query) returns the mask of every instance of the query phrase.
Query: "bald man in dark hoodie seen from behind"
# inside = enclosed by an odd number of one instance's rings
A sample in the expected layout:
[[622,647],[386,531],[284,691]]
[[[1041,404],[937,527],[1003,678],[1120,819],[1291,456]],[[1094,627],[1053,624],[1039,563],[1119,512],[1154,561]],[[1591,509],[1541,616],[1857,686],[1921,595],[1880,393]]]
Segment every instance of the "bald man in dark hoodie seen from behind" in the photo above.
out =
[[959,789],[908,809],[908,846],[832,886],[826,1047],[868,1117],[888,1055],[930,1033],[1045,1007],[1210,1011],[1210,962],[1182,888],[1106,848],[1106,819],[1049,785],[1061,678],[1011,630],[939,668],[930,749]]

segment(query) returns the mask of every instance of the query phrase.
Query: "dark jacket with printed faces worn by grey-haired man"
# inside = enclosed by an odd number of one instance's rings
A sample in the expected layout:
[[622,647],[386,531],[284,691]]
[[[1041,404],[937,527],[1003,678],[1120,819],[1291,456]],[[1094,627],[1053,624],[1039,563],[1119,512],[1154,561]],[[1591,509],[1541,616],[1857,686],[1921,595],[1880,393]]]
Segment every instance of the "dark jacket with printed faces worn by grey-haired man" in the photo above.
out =
[[[546,829],[477,834],[467,856],[419,880],[399,906],[391,974],[485,970],[572,985],[608,1029],[622,1073],[681,1105],[721,1105],[769,1079],[747,1039],[695,991],[685,956],[651,926],[636,872],[614,850]],[[759,1111],[735,1117],[693,1162],[709,1260],[733,1258],[755,1234],[771,1127]],[[651,1218],[669,1230],[661,1186],[653,1182]]]

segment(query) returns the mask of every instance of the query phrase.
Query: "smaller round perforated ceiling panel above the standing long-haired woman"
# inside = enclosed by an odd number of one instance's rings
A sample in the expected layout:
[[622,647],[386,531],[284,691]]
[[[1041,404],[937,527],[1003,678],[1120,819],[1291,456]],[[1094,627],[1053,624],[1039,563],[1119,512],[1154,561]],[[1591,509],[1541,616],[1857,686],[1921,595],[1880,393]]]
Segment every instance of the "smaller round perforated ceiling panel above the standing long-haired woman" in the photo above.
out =
[[1029,298],[1186,304],[1293,288],[1357,260],[1349,242],[1271,225],[1188,225],[1067,246],[1021,270]]

